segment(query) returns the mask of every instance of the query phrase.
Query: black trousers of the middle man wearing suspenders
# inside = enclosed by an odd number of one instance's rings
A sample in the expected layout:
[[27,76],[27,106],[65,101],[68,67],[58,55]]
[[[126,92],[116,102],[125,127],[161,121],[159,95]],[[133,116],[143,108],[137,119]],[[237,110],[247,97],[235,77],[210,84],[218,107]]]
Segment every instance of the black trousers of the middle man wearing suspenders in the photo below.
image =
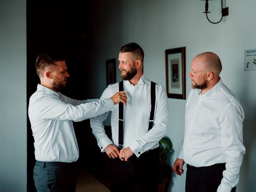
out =
[[110,160],[111,192],[157,192],[159,175],[158,148],[135,155],[125,162]]

